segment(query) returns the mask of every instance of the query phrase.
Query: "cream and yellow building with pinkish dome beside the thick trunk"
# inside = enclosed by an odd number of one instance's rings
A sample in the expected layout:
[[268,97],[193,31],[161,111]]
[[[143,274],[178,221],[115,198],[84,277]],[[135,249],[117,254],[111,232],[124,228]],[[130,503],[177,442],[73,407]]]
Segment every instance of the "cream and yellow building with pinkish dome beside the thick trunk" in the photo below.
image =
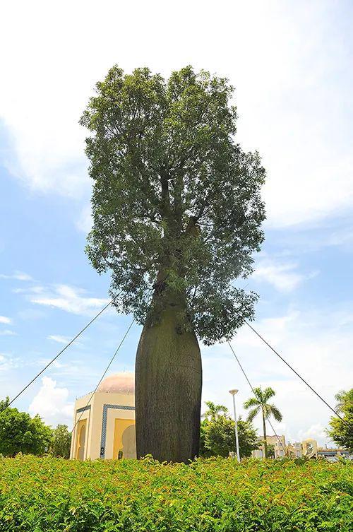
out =
[[133,373],[110,375],[76,399],[73,426],[71,459],[136,458]]

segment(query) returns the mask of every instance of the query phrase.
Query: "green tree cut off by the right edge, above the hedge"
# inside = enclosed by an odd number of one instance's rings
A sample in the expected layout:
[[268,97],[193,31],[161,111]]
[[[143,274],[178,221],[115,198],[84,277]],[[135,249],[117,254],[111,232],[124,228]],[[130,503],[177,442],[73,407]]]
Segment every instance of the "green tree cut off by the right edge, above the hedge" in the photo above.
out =
[[340,391],[336,394],[336,411],[341,418],[332,417],[328,436],[333,441],[353,452],[353,388],[349,391]]

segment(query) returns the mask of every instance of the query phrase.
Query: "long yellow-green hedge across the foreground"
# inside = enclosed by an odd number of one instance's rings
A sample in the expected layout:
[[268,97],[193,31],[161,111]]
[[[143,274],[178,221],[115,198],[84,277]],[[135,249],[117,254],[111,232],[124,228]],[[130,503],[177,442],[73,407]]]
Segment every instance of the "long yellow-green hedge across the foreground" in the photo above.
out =
[[353,531],[353,466],[0,459],[0,531]]

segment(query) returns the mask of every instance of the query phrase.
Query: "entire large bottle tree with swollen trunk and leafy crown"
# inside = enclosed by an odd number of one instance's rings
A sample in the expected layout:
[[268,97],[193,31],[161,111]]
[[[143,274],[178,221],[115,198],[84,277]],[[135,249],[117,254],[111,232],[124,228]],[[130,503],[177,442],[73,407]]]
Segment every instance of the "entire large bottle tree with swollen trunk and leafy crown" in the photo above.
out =
[[200,338],[232,338],[257,296],[231,283],[263,241],[258,153],[234,141],[226,79],[191,66],[169,80],[114,66],[81,124],[93,179],[86,252],[111,271],[119,312],[143,324],[136,355],[138,456],[198,454]]

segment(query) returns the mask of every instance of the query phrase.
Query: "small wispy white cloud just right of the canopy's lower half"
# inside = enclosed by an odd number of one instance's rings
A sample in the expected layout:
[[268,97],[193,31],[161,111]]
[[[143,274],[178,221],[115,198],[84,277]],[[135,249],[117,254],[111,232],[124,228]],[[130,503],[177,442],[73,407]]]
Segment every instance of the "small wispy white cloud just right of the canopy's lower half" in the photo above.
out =
[[304,280],[313,278],[317,272],[308,275],[297,271],[298,265],[294,263],[276,263],[270,259],[263,259],[256,266],[251,278],[269,283],[280,292],[292,292]]

